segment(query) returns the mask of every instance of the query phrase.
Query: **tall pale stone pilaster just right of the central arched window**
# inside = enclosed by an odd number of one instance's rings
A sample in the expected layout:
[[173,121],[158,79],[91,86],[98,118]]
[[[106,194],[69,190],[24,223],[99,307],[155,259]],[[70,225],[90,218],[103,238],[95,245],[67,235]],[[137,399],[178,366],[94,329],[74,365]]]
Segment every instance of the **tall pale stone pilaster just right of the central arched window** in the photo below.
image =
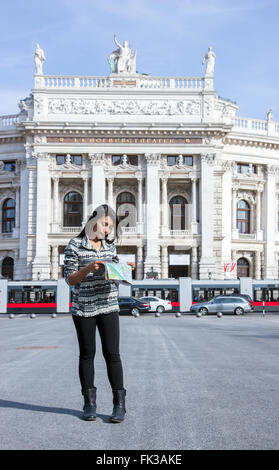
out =
[[161,276],[161,263],[159,252],[159,226],[160,226],[160,182],[159,182],[159,154],[146,154],[146,259],[144,262],[144,276],[151,270]]

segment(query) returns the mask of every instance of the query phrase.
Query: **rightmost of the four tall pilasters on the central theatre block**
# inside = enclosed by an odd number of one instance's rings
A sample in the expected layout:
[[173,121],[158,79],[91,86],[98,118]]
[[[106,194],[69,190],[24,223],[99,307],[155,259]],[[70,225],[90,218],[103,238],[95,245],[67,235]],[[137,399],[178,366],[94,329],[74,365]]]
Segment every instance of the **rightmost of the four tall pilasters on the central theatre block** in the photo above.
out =
[[215,277],[213,257],[213,180],[215,154],[201,155],[201,259],[200,279]]

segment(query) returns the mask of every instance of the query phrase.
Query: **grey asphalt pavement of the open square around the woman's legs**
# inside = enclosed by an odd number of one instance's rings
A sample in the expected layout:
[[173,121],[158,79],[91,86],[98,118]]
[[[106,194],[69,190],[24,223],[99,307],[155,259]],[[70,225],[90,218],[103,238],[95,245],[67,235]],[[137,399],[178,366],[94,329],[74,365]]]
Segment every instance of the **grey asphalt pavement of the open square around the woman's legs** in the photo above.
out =
[[71,316],[0,316],[0,449],[279,449],[279,314],[120,316],[125,420],[97,331],[97,420],[82,419]]

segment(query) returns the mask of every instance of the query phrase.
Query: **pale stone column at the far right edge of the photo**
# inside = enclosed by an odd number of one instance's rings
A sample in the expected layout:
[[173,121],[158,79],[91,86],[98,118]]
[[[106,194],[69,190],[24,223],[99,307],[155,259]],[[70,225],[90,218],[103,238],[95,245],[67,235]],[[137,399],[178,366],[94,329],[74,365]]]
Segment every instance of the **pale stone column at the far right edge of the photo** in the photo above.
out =
[[265,279],[277,279],[278,269],[275,260],[275,229],[276,229],[276,175],[278,167],[266,166],[265,183]]

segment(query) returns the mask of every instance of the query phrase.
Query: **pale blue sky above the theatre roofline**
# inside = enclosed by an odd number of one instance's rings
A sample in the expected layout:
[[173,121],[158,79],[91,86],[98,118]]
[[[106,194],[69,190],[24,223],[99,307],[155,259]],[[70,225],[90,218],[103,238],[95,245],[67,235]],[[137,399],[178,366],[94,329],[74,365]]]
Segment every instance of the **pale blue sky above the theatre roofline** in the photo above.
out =
[[151,76],[203,76],[216,54],[215,89],[238,115],[279,121],[278,0],[13,0],[1,2],[0,115],[17,113],[33,87],[34,51],[48,75],[108,75],[119,42]]

